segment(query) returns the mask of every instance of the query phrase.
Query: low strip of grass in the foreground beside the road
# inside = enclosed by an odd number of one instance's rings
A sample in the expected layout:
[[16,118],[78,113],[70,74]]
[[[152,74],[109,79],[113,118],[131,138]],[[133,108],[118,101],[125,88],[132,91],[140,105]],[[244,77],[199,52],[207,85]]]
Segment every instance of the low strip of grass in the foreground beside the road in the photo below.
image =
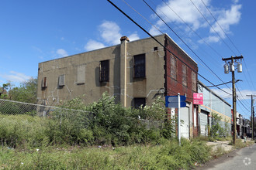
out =
[[5,169],[188,169],[209,160],[204,141],[126,147],[0,148]]

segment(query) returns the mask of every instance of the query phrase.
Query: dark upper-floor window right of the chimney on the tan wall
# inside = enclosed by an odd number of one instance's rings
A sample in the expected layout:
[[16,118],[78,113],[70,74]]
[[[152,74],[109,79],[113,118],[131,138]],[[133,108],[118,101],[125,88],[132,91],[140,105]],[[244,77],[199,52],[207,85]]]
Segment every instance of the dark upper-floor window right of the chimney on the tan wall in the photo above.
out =
[[133,61],[133,77],[134,78],[145,78],[145,54],[134,56]]

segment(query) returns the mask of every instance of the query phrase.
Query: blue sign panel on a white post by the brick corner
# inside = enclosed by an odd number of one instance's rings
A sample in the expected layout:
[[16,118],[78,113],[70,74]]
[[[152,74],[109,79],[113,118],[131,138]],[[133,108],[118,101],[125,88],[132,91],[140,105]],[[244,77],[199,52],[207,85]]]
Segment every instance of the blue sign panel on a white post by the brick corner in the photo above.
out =
[[[180,107],[185,107],[185,96],[180,96]],[[166,96],[165,97],[165,107],[175,107],[178,108],[178,96]]]

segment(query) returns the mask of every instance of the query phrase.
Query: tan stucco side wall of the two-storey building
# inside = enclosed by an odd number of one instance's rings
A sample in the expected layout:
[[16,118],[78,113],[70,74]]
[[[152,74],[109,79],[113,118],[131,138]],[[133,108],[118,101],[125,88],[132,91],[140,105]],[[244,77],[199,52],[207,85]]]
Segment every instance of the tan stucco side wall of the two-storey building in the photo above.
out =
[[[164,35],[156,39],[164,44]],[[122,103],[124,88],[127,107],[133,105],[133,97],[146,97],[147,104],[151,104],[157,96],[164,97],[164,93],[159,94],[159,90],[164,88],[164,48],[154,39],[127,42],[126,51],[123,48],[121,44],[39,63],[38,104],[62,104],[64,100],[78,96],[82,96],[85,104],[89,104],[106,91],[116,97],[116,103]],[[134,79],[133,56],[142,53],[146,56],[146,78]],[[99,63],[106,59],[109,59],[109,82],[100,82]],[[127,62],[126,76],[123,75],[124,59]],[[85,83],[78,83],[79,66],[85,66]],[[58,86],[58,76],[61,75],[65,76],[63,87]],[[41,83],[43,77],[47,77],[45,88],[42,88]],[[123,84],[124,77],[126,86]]]

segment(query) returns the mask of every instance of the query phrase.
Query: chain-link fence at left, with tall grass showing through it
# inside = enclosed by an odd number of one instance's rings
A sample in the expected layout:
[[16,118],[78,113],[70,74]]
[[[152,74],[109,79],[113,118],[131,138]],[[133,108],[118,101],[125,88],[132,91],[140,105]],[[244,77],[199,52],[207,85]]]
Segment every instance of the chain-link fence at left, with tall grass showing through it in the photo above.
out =
[[0,145],[85,142],[90,115],[85,110],[0,99]]

